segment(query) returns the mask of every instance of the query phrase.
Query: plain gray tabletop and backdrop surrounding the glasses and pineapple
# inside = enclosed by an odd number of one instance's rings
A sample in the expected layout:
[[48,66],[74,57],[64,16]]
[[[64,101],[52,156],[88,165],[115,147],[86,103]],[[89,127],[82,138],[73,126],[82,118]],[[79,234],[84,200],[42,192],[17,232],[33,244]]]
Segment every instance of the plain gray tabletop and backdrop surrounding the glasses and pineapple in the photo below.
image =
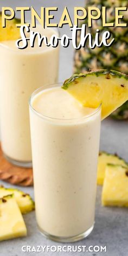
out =
[[[65,0],[65,1],[41,1],[41,0],[1,0],[0,8],[2,6],[10,6],[15,9],[16,6],[33,6],[37,11],[40,10],[41,6],[44,7],[58,7],[59,10],[56,13],[56,20],[59,21],[63,7],[67,6],[69,14],[73,17],[74,6],[84,6],[84,1],[79,0]],[[17,15],[18,16],[18,15]],[[28,15],[29,17],[29,15]],[[61,34],[69,33],[67,27],[61,29]],[[71,76],[73,71],[73,48],[61,48],[60,53],[60,71],[59,81],[63,81]],[[121,157],[128,161],[128,129],[127,121],[114,121],[110,118],[104,120],[101,124],[101,139],[100,139],[100,150],[108,152],[117,152]],[[3,182],[1,182],[3,183]],[[4,185],[9,185],[3,183]],[[29,193],[34,197],[33,188],[23,188],[26,193]],[[125,208],[104,208],[101,206],[101,187],[97,189],[97,202],[96,202],[96,214],[95,214],[95,227],[92,234],[85,240],[76,242],[74,245],[107,245],[107,252],[96,253],[96,252],[78,252],[73,255],[92,255],[99,256],[126,256],[128,255],[127,246],[127,235],[128,235],[128,221],[127,221],[127,209]],[[47,240],[37,230],[35,221],[35,212],[29,213],[24,216],[25,223],[28,229],[27,238],[19,238],[10,241],[4,241],[0,244],[0,256],[21,256],[21,255],[40,255],[41,253],[23,253],[21,247],[23,245],[59,245],[59,243]],[[0,227],[1,228],[1,227]],[[71,255],[71,253],[43,253],[43,255]]]

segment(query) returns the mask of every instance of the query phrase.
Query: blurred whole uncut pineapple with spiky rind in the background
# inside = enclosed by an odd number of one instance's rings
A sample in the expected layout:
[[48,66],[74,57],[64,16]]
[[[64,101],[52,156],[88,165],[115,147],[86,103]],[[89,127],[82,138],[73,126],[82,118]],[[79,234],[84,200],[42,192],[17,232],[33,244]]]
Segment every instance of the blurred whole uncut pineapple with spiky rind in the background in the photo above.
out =
[[[100,10],[104,6],[107,8],[107,22],[114,21],[114,7],[127,7],[127,0],[86,0],[86,7],[94,6]],[[124,18],[121,20],[123,23],[127,23],[127,12],[123,12]],[[87,20],[85,20],[87,24]],[[75,50],[74,55],[74,73],[81,73],[88,71],[89,69],[113,69],[116,71],[128,74],[128,27],[102,27],[101,20],[93,21],[92,28],[88,28],[88,32],[95,36],[96,30],[100,30],[100,34],[109,30],[111,32],[111,38],[115,41],[111,47],[96,47],[90,49],[88,45],[80,50]],[[79,42],[79,36],[78,36]],[[128,102],[126,102],[121,108],[118,108],[116,112],[112,114],[115,119],[128,119]]]

